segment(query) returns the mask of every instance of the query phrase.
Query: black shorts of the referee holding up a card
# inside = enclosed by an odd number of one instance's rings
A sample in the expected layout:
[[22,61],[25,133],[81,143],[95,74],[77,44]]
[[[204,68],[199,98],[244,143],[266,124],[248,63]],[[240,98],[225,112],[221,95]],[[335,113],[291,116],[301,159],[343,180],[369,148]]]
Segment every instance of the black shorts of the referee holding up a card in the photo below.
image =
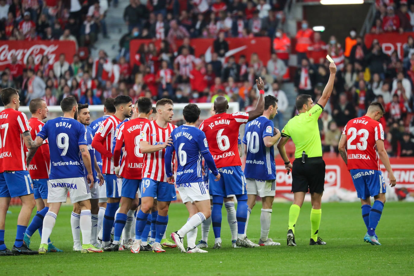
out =
[[291,192],[310,192],[322,194],[325,185],[325,161],[322,157],[296,158],[292,164]]

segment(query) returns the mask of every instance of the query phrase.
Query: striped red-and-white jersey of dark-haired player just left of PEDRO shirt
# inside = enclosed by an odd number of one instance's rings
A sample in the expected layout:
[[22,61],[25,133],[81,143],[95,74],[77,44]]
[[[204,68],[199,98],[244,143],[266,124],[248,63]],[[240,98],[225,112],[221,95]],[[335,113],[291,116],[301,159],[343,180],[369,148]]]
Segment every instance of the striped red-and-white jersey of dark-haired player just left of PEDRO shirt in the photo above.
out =
[[[112,141],[115,137],[116,126],[120,124],[122,120],[118,119],[116,116],[112,115],[108,117],[105,121],[99,125],[98,130],[95,133],[94,140],[97,138],[103,139],[103,146],[105,147],[106,152],[99,151],[99,146],[92,145],[95,150],[98,150],[102,155],[102,173],[114,174],[113,161],[112,157]],[[98,137],[97,137],[98,136]],[[100,138],[99,138],[100,136]]]

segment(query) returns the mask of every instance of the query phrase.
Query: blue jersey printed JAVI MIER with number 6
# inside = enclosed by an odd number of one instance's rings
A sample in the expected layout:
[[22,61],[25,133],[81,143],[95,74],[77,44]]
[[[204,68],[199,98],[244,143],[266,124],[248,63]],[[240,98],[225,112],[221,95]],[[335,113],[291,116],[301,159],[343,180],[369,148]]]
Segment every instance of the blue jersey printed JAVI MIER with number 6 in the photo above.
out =
[[[171,132],[171,139],[173,140],[173,147],[167,146],[165,164],[167,165],[168,161],[171,160],[172,152],[175,150],[178,159],[177,184],[203,181],[201,173],[202,156],[205,157],[207,162],[212,162],[212,164],[209,163],[209,167],[215,173],[214,175],[217,175],[217,168],[210,154],[204,132],[194,126],[181,125]],[[170,167],[166,166],[167,176],[172,175]]]

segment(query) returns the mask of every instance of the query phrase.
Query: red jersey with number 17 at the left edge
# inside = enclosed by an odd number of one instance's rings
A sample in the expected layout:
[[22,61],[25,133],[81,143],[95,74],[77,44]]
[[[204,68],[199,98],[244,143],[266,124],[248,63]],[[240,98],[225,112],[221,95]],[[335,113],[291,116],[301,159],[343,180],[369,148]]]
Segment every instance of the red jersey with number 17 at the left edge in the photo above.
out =
[[22,133],[30,131],[23,112],[6,108],[0,112],[0,173],[27,170]]

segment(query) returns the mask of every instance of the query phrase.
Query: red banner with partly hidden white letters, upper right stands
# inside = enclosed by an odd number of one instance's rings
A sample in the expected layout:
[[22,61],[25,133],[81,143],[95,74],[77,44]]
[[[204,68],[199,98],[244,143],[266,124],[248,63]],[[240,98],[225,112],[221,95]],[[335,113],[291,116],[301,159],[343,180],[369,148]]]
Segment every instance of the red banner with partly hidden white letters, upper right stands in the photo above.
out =
[[391,55],[392,52],[397,51],[398,57],[403,58],[404,55],[404,45],[407,43],[407,38],[409,36],[414,37],[414,32],[405,32],[405,33],[385,33],[385,34],[366,34],[365,35],[365,45],[369,49],[372,45],[374,39],[378,39],[383,52],[387,55]]

